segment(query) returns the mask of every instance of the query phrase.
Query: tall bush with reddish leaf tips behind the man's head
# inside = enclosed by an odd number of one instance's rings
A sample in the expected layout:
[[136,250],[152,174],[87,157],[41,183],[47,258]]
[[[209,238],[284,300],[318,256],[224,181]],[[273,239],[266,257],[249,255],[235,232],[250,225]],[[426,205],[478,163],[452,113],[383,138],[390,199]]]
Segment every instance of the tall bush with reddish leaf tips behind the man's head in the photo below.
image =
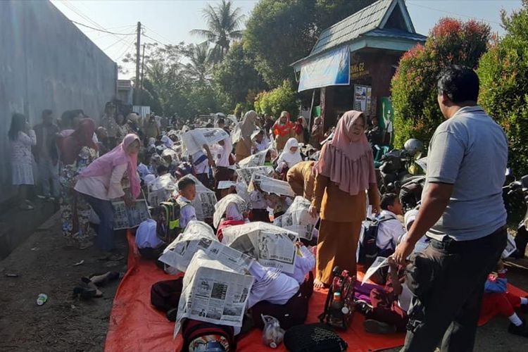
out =
[[433,27],[425,46],[403,54],[391,82],[396,146],[409,138],[429,144],[444,120],[436,100],[436,76],[449,65],[476,68],[489,38],[489,25],[444,18]]

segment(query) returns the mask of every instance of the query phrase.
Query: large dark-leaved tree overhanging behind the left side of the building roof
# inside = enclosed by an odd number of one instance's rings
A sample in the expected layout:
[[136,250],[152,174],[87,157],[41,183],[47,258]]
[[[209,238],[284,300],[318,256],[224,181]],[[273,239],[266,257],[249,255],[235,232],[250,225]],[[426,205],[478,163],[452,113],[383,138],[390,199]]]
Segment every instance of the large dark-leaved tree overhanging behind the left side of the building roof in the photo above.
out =
[[244,47],[270,87],[295,82],[290,64],[307,56],[322,30],[375,0],[261,0],[244,30]]

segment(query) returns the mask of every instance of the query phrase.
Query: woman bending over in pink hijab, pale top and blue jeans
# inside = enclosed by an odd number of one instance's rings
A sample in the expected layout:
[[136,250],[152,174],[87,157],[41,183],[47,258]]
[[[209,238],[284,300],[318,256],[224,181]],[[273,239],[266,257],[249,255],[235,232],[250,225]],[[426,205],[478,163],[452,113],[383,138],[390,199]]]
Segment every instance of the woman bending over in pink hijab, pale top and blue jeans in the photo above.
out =
[[[75,185],[101,220],[95,244],[103,251],[115,249],[111,199],[122,198],[130,207],[141,192],[136,172],[139,144],[136,134],[127,134],[120,145],[84,169]],[[123,190],[128,187],[132,198]]]

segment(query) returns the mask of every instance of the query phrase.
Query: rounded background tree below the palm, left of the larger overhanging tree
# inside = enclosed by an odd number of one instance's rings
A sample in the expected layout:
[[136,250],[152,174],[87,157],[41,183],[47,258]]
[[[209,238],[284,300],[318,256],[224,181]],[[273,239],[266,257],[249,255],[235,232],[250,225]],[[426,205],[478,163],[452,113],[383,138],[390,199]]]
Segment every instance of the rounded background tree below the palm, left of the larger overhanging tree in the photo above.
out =
[[[215,66],[213,82],[225,94],[227,111],[233,111],[237,103],[245,103],[250,94],[267,88],[253,65],[242,43],[234,43],[224,61]],[[248,102],[246,111],[253,108],[253,101]]]

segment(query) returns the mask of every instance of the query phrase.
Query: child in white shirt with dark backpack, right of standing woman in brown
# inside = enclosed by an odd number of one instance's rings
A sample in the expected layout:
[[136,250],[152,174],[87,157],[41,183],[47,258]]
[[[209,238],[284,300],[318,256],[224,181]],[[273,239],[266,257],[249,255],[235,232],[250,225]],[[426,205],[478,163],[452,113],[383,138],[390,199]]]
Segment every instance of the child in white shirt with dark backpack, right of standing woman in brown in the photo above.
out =
[[406,232],[397,216],[403,215],[403,206],[398,195],[394,193],[384,194],[381,203],[382,213],[380,215],[384,221],[379,222],[376,246],[379,256],[388,257],[394,253],[398,239]]

